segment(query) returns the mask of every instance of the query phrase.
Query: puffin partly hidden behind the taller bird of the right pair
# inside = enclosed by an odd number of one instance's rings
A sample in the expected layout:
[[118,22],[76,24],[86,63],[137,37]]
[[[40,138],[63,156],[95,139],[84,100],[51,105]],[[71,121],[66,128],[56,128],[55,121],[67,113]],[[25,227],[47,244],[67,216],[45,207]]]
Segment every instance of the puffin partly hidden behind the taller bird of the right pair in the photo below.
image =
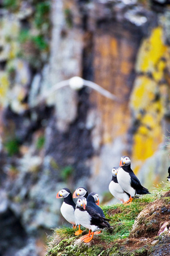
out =
[[119,170],[119,167],[112,168],[112,180],[109,184],[109,191],[116,199],[120,200],[121,203],[125,203],[126,201],[129,200],[130,195],[129,193],[125,192],[124,189],[122,189],[122,187],[117,181],[118,170]]

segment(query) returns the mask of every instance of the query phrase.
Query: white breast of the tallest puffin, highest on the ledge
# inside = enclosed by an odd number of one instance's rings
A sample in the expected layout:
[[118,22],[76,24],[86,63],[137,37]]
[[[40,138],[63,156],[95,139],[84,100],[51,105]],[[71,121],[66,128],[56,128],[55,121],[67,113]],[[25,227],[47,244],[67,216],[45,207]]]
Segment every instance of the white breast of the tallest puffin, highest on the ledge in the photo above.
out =
[[126,191],[127,193],[130,194],[131,197],[135,196],[135,189],[131,187],[131,178],[128,172],[125,172],[122,168],[117,173],[117,181],[118,184]]

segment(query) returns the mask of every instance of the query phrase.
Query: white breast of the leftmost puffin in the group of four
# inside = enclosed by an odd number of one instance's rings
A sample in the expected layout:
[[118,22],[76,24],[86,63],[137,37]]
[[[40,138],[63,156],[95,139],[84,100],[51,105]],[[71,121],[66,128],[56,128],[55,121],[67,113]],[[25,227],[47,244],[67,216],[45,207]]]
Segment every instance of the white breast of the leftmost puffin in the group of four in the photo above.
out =
[[74,208],[72,205],[66,204],[65,202],[61,205],[62,216],[71,224],[75,225]]

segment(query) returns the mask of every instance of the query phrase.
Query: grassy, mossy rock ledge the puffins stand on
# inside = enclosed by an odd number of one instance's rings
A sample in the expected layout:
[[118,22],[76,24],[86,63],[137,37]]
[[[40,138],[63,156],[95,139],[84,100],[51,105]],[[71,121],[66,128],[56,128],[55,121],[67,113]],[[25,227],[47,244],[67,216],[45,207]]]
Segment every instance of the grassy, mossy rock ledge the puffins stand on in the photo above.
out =
[[[167,187],[169,184],[167,184]],[[55,229],[46,256],[167,256],[170,255],[170,191],[154,191],[129,205],[103,205],[111,229],[102,230],[90,243],[68,227]],[[82,234],[87,234],[84,229]]]

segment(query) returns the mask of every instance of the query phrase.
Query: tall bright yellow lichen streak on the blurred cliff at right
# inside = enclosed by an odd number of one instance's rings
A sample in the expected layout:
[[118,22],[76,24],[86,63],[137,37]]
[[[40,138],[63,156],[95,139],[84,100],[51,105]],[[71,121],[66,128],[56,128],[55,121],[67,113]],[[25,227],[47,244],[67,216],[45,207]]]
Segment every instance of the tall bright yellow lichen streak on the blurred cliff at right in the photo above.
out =
[[163,43],[162,27],[154,28],[150,38],[145,39],[139,49],[136,65],[139,75],[135,79],[130,98],[134,123],[135,121],[138,123],[135,127],[132,148],[132,158],[136,163],[135,173],[147,158],[154,155],[163,141],[161,121],[165,106],[159,82],[165,81],[167,49]]

